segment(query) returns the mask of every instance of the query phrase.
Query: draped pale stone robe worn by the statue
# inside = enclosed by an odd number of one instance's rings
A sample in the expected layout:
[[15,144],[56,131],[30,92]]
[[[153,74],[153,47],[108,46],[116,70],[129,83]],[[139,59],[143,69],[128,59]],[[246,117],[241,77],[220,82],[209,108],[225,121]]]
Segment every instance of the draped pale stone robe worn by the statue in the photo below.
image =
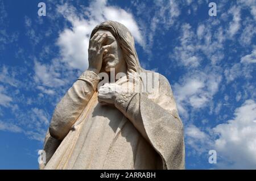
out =
[[40,169],[184,169],[183,124],[163,75],[153,98],[124,92],[114,105],[98,103],[96,75],[85,75],[55,108]]

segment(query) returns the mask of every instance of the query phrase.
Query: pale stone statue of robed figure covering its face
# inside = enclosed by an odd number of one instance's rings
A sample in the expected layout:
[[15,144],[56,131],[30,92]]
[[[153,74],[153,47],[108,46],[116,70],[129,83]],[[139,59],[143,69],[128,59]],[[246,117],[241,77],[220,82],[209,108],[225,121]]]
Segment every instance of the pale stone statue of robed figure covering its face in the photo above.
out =
[[[141,68],[129,30],[99,24],[88,54],[88,70],[55,108],[40,169],[184,169],[183,124],[171,86]],[[154,76],[157,89],[147,92]]]

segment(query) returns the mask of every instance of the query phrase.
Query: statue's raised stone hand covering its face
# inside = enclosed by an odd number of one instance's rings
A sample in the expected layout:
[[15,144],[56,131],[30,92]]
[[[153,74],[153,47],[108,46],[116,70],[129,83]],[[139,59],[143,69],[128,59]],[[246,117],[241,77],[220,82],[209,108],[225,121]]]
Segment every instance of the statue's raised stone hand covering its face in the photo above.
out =
[[108,52],[110,45],[105,45],[102,47],[102,43],[108,35],[106,33],[96,32],[90,39],[88,48],[88,70],[94,71],[94,73],[100,73],[102,66],[102,57],[104,53]]

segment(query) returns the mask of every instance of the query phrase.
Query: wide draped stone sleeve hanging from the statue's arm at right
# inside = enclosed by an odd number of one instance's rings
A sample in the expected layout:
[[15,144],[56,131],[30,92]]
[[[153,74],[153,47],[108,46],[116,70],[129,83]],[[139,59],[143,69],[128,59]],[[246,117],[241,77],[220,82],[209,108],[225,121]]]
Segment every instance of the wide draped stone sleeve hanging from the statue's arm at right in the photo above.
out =
[[118,108],[162,158],[163,169],[184,169],[183,124],[168,80],[160,75],[154,99],[146,93],[123,92],[115,99]]

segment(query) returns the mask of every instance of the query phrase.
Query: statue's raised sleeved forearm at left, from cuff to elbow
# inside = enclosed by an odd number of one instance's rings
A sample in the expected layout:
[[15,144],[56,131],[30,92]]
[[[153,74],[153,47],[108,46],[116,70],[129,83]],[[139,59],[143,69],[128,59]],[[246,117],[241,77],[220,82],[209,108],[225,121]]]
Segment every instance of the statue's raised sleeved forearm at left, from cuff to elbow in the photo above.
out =
[[98,85],[97,74],[85,71],[57,104],[49,125],[49,134],[63,140],[92,97]]

